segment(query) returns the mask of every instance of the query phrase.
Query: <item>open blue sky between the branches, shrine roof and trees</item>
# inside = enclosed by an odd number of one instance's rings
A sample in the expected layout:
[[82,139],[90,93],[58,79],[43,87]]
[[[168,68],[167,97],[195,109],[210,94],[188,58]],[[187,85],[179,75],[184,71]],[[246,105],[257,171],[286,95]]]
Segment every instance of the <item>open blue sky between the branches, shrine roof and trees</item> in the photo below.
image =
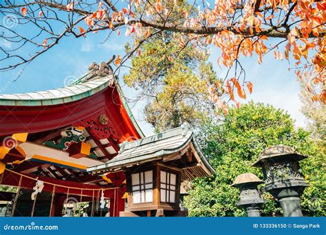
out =
[[[3,19],[0,20],[0,23],[3,23]],[[126,38],[124,32],[121,32],[120,36],[113,33],[107,41],[105,41],[106,37],[107,32],[98,32],[98,34],[88,34],[86,38],[64,38],[56,47],[30,63],[17,81],[11,80],[17,76],[20,69],[0,72],[0,93],[23,93],[64,87],[67,81],[85,74],[92,62],[107,61],[113,54],[124,55],[124,44],[130,38]],[[0,46],[10,48],[13,45],[0,39]],[[215,66],[217,75],[224,77],[226,68],[220,69],[217,65],[219,49],[212,47],[210,53],[210,61]],[[257,58],[246,58],[242,61],[246,69],[246,77],[253,83],[254,91],[247,100],[241,102],[254,100],[254,102],[272,104],[290,113],[296,120],[296,126],[305,126],[305,117],[300,111],[301,101],[298,97],[300,87],[294,72],[288,71],[287,60],[275,60],[271,53],[265,56],[263,65],[257,63]],[[120,72],[120,78],[125,72],[127,70]],[[133,89],[126,86],[122,88],[127,97],[135,96]],[[146,102],[143,100],[131,108],[144,134],[151,135],[153,128],[144,121],[143,115]]]

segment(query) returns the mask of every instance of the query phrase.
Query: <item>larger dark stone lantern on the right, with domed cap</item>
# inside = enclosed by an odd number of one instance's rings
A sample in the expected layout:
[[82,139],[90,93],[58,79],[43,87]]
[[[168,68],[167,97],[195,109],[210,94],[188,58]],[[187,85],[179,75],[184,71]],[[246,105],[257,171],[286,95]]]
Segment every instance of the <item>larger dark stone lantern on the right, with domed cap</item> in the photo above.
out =
[[276,145],[263,150],[252,165],[263,168],[264,190],[278,199],[284,216],[303,216],[300,196],[309,183],[305,182],[298,162],[305,158],[290,146]]

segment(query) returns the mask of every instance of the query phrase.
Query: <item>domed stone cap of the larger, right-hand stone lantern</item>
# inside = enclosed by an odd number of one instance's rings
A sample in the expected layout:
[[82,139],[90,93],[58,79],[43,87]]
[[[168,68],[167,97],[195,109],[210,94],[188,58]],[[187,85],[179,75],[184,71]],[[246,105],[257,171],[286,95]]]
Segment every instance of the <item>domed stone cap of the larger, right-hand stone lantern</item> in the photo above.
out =
[[261,152],[261,155],[259,155],[258,160],[252,164],[252,166],[262,167],[267,162],[280,161],[281,159],[284,159],[284,156],[286,156],[286,159],[289,161],[300,161],[307,158],[307,156],[297,153],[295,148],[279,144],[265,148],[265,150]]

